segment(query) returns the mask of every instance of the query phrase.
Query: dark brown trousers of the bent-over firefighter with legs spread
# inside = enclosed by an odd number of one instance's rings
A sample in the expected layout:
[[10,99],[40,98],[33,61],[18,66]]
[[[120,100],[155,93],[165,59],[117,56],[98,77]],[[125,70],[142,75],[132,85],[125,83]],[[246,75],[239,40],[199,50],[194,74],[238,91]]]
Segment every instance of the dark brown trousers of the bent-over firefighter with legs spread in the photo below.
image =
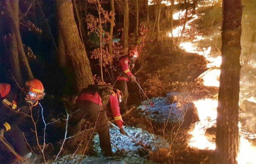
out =
[[[94,102],[81,100],[76,102],[76,110],[70,118],[70,127],[68,133],[70,136],[74,136],[81,130],[81,120],[84,116],[88,116],[93,122],[96,122],[96,130],[99,134],[99,142],[102,150],[102,155],[111,156],[111,143],[110,143],[110,134],[108,126],[108,117],[105,110],[102,110],[100,105],[97,105]],[[68,147],[75,146],[78,135],[72,137],[67,143]]]

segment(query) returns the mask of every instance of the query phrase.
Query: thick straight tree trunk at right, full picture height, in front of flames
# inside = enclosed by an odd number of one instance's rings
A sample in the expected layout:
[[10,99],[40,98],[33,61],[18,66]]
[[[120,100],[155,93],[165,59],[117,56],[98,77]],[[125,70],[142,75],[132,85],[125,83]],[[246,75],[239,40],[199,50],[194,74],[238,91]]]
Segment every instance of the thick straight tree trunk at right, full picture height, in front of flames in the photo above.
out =
[[239,150],[239,76],[241,0],[223,0],[221,75],[217,108],[216,162],[237,164]]

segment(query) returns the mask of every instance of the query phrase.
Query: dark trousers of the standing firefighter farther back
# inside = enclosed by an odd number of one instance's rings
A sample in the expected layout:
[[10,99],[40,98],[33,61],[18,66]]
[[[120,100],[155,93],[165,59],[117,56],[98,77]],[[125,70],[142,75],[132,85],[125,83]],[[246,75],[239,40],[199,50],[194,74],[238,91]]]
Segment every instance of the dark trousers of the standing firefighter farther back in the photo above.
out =
[[119,103],[120,112],[121,114],[124,114],[127,110],[127,99],[129,96],[128,88],[127,88],[127,82],[125,80],[117,80],[115,84],[115,88],[122,91],[122,102]]

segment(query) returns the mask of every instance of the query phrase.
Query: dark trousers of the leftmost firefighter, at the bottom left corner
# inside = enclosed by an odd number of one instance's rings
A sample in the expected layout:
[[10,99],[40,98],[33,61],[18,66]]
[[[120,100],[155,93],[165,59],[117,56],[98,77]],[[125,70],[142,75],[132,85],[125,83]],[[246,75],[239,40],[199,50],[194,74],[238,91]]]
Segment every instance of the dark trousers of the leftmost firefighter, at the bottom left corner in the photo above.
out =
[[[30,150],[27,147],[26,140],[23,136],[23,133],[20,131],[20,129],[17,127],[17,125],[11,125],[11,129],[8,130],[7,132],[4,132],[4,138],[6,141],[12,145],[14,150],[22,157],[26,156]],[[0,141],[1,142],[1,141]],[[9,149],[3,144],[0,143],[0,156],[2,160],[0,161],[1,163],[12,163],[13,158],[10,157],[8,154],[3,154],[2,150],[9,151]]]

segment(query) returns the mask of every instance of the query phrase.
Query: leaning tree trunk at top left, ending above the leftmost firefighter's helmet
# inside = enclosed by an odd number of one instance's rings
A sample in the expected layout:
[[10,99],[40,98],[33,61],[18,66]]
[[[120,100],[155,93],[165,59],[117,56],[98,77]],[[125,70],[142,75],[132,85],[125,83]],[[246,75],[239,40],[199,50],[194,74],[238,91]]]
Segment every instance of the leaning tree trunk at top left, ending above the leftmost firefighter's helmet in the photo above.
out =
[[23,73],[25,74],[23,77],[25,77],[26,80],[33,79],[34,76],[30,69],[29,62],[26,58],[26,54],[25,54],[21,36],[20,36],[19,1],[18,0],[13,0],[13,1],[6,0],[5,3],[6,3],[6,8],[9,11],[10,18],[11,18],[13,28],[14,28],[14,34],[15,34],[15,38],[17,41],[17,49],[18,49],[18,53],[19,53],[19,61],[20,61],[21,65],[23,66]]

